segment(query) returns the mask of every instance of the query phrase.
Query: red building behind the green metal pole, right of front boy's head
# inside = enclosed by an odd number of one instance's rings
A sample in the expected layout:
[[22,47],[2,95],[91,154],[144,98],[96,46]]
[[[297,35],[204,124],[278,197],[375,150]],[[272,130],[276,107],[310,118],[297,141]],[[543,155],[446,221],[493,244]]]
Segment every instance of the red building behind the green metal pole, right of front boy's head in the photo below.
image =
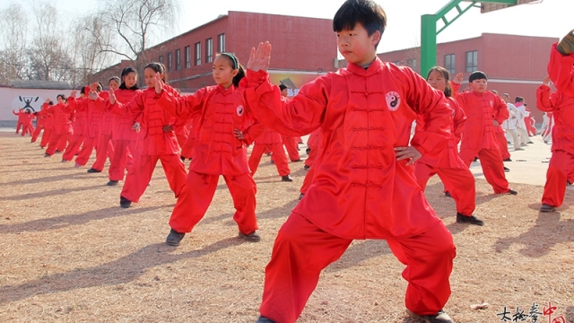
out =
[[[463,73],[465,80],[472,72],[483,71],[489,77],[489,90],[509,93],[511,99],[524,97],[536,123],[541,123],[542,112],[536,109],[536,88],[547,74],[550,48],[558,40],[483,33],[473,39],[438,44],[437,65],[446,67],[451,76]],[[420,48],[396,50],[378,57],[396,65],[408,65],[426,77],[427,71],[420,71]]]

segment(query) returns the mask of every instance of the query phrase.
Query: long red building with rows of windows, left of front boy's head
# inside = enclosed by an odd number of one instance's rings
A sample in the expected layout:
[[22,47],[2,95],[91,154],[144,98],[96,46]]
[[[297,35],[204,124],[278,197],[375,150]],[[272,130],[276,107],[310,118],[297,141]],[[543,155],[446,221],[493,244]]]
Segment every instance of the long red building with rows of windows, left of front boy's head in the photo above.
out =
[[[336,70],[331,20],[266,13],[229,12],[149,48],[145,57],[166,65],[172,86],[193,92],[214,84],[211,73],[217,53],[234,53],[247,65],[251,48],[265,40],[273,46],[269,73],[274,83],[283,82],[296,90],[317,75]],[[119,74],[126,64],[110,66],[98,77]]]

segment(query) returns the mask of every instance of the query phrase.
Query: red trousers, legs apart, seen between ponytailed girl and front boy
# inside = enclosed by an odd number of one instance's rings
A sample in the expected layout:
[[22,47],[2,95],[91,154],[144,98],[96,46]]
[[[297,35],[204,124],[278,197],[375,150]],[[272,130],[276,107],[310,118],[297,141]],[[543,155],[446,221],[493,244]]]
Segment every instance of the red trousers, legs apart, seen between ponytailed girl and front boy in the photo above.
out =
[[259,162],[261,162],[261,156],[265,152],[265,148],[269,149],[273,153],[275,167],[279,176],[287,176],[291,174],[289,169],[289,162],[285,156],[285,151],[283,150],[283,139],[282,135],[274,132],[271,129],[266,128],[265,133],[258,136],[251,150],[251,155],[249,156],[249,170],[251,170],[251,175],[255,175],[257,168],[259,167]]

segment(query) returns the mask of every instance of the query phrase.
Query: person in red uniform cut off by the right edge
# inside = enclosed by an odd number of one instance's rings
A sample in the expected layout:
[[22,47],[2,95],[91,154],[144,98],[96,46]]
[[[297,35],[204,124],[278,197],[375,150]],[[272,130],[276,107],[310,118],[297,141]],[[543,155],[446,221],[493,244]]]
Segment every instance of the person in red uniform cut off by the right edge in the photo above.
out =
[[[562,46],[564,39],[572,37],[571,47]],[[545,112],[552,112],[554,127],[552,128],[552,157],[546,172],[546,183],[542,195],[541,212],[554,212],[556,207],[564,202],[566,187],[564,183],[574,170],[574,78],[570,83],[563,79],[554,79],[556,72],[570,66],[570,73],[574,75],[574,36],[572,31],[560,43],[554,44],[551,50],[548,72],[550,76],[536,90],[536,107]],[[551,73],[554,72],[554,73]],[[565,72],[565,71],[564,71]],[[564,73],[566,74],[566,73]],[[550,93],[550,81],[556,85],[558,91]],[[560,84],[560,88],[559,85]]]

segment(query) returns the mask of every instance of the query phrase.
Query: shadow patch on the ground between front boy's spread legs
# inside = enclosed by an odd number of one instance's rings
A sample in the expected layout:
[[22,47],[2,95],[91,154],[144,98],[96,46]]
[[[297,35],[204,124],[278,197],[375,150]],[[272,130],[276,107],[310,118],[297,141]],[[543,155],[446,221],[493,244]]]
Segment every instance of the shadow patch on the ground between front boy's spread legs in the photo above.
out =
[[361,262],[370,258],[392,254],[387,240],[365,240],[362,243],[353,243],[345,250],[343,256],[324,270],[325,273],[336,273],[340,270],[361,265]]

